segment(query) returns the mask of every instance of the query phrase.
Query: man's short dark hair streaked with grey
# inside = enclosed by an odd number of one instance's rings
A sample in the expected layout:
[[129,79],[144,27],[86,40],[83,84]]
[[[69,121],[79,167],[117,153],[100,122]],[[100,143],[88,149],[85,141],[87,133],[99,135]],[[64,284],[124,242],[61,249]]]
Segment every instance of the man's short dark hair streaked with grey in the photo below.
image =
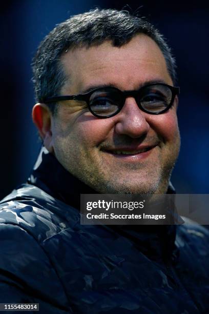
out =
[[[176,62],[163,35],[144,17],[131,15],[128,11],[94,9],[77,14],[58,24],[40,43],[33,58],[33,83],[37,102],[45,97],[59,95],[66,76],[60,57],[69,49],[79,46],[99,45],[106,40],[120,47],[136,34],[151,37],[165,58],[173,83],[176,82]],[[55,113],[56,104],[50,104]]]

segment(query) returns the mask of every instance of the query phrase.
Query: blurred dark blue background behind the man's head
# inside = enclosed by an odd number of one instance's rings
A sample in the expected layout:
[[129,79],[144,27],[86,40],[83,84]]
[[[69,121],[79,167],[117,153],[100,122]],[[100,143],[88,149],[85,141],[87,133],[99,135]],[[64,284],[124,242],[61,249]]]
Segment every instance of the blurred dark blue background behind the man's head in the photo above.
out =
[[[0,198],[26,181],[40,147],[31,119],[31,60],[55,26],[95,7],[129,5],[168,38],[178,65],[181,152],[172,182],[179,193],[209,193],[208,7],[206,2],[22,0],[1,4]],[[127,7],[125,7],[127,9]]]

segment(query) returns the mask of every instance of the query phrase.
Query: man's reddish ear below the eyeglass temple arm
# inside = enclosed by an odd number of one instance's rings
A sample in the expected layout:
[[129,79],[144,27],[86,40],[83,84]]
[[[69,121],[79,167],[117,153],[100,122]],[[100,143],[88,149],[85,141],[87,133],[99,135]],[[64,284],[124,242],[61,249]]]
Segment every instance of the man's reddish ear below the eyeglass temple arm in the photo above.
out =
[[43,140],[44,146],[51,153],[54,152],[52,136],[52,113],[45,104],[36,104],[32,111],[33,122],[38,129],[38,133]]

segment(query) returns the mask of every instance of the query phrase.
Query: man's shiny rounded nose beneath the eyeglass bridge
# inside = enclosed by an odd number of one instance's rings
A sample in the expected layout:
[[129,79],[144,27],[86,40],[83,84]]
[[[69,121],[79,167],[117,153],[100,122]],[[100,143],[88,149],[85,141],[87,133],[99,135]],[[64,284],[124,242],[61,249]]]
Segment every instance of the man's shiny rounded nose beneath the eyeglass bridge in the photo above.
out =
[[131,138],[140,138],[148,133],[150,125],[146,120],[148,114],[141,111],[133,97],[128,97],[121,111],[116,115],[115,131]]

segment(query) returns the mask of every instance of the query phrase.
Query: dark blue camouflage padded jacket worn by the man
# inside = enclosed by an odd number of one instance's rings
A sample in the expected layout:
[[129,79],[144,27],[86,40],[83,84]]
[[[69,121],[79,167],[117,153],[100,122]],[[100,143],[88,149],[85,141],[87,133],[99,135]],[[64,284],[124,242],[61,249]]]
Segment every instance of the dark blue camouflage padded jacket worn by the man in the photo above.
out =
[[[207,229],[80,225],[95,193],[43,149],[0,204],[0,303],[40,313],[209,313]],[[171,191],[170,191],[171,192]]]

